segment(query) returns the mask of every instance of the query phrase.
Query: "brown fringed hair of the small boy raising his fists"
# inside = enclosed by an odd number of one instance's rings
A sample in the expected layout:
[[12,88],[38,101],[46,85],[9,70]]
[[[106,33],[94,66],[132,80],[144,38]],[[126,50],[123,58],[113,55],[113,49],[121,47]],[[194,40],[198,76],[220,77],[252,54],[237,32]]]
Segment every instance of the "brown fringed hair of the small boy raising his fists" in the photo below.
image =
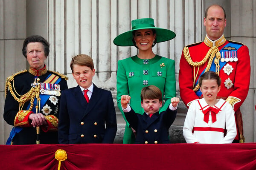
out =
[[149,85],[147,87],[142,88],[140,93],[141,102],[143,99],[159,99],[159,102],[162,101],[162,92],[160,89],[154,85]]

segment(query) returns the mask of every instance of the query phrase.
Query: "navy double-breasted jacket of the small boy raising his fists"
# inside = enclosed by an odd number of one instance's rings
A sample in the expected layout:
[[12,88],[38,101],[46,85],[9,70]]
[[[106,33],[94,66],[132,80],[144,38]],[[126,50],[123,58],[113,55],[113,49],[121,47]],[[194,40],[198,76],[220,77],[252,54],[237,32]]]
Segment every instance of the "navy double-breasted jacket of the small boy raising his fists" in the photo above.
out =
[[169,127],[175,120],[177,110],[154,113],[149,117],[145,112],[143,115],[135,113],[133,109],[125,112],[125,117],[130,126],[137,131],[136,144],[170,143]]

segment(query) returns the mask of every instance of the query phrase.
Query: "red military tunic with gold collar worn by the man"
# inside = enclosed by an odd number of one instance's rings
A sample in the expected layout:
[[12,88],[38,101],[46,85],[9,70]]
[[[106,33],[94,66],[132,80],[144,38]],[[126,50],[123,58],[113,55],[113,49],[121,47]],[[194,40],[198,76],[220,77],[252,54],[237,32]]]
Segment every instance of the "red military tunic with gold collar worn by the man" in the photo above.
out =
[[[219,59],[219,64],[222,64],[222,67],[219,69],[221,90],[218,93],[218,97],[226,99],[226,101],[232,105],[234,111],[236,112],[244,102],[250,85],[250,56],[248,48],[246,45],[239,42],[226,41],[224,35],[216,41],[211,41],[206,36],[204,42],[187,45],[189,55],[186,56],[189,56],[190,61],[192,62],[201,62],[212,46],[218,47],[218,50],[221,52],[221,58],[225,59],[228,58],[230,54],[233,54],[232,56],[236,55],[238,59],[236,61],[236,59],[233,57],[234,61],[232,62],[221,62],[222,59]],[[197,66],[193,67],[191,63],[189,64],[189,62],[185,59],[183,50],[180,58],[179,85],[180,97],[187,107],[189,107],[189,104],[193,100],[199,99],[201,96],[201,94],[198,92],[196,94],[195,91],[193,91],[193,88],[195,88],[195,86],[198,84],[198,78],[204,73],[208,62],[209,59],[207,59],[204,64],[199,66],[198,70]],[[212,67],[210,70],[216,71],[214,59],[212,61]],[[195,85],[193,86],[193,84]],[[240,139],[241,138],[243,137],[240,137]],[[239,139],[238,135],[235,139]]]

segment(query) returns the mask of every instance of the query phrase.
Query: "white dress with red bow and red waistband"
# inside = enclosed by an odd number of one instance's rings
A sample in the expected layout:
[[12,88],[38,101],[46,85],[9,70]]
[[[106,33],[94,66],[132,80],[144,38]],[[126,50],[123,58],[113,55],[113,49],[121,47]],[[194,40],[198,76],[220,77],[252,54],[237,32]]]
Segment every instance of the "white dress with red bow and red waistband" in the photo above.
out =
[[204,98],[192,102],[184,122],[183,136],[187,143],[232,143],[236,137],[232,106],[223,99],[219,99],[213,107]]

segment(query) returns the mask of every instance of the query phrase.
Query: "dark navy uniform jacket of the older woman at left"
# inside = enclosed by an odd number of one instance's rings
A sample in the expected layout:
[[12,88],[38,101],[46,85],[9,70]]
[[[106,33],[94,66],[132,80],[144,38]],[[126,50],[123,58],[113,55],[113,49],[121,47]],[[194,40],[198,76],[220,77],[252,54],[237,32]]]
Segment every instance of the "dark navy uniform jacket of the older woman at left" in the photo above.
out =
[[[26,94],[30,89],[31,89],[31,83],[33,83],[35,81],[35,75],[36,73],[33,72],[34,70],[32,68],[29,68],[28,71],[21,71],[20,74],[18,73],[15,77],[14,77],[14,88],[13,91],[15,91],[15,95],[18,96],[19,95],[24,95]],[[44,82],[47,77],[49,77],[50,74],[55,75],[55,76],[59,76],[61,77],[61,81],[55,84],[60,85],[60,91],[62,92],[62,90],[67,89],[67,77],[65,77],[62,74],[58,74],[56,72],[52,72],[52,71],[47,71],[47,69],[44,67],[43,69],[41,69],[40,71],[40,76],[38,76],[37,78],[40,79],[39,82]],[[16,94],[17,92],[17,94]],[[41,94],[40,94],[41,95]],[[44,94],[45,95],[45,94]],[[54,95],[48,95],[48,96],[54,96]],[[42,130],[42,127],[40,128],[40,143],[41,144],[58,144],[58,110],[59,110],[59,104],[60,104],[60,96],[56,96],[56,102],[52,102],[52,100],[49,98],[47,99],[47,101],[43,104],[41,102],[41,108],[38,112],[42,113],[44,116],[53,116],[56,119],[56,122],[54,124],[55,129],[52,130],[48,130],[47,132],[44,132]],[[26,108],[28,107],[28,105],[30,104],[30,99],[29,101],[25,102],[23,105],[22,110],[26,110]],[[48,106],[47,108],[49,109],[49,113],[45,114],[42,111],[42,108],[44,108],[45,106]],[[34,105],[35,108],[35,105]],[[43,109],[44,110],[44,109]],[[4,105],[4,113],[3,113],[3,118],[4,120],[12,126],[16,126],[15,125],[15,118],[17,118],[18,115],[18,111],[19,111],[19,102],[17,102],[14,97],[12,96],[12,94],[10,93],[10,90],[7,91],[6,94],[6,99],[5,99],[5,105]],[[25,121],[25,119],[29,116],[29,114],[27,114],[24,119],[23,122]],[[52,119],[53,120],[53,119]],[[21,121],[21,120],[20,120]],[[22,121],[21,121],[22,122]],[[48,122],[48,121],[47,121]],[[17,122],[16,122],[17,123]],[[22,123],[20,123],[22,124]],[[19,125],[20,126],[20,125]],[[21,130],[19,133],[17,133],[12,142],[13,144],[36,144],[36,128],[32,127],[30,122],[27,122],[26,124],[23,124],[23,130]]]

